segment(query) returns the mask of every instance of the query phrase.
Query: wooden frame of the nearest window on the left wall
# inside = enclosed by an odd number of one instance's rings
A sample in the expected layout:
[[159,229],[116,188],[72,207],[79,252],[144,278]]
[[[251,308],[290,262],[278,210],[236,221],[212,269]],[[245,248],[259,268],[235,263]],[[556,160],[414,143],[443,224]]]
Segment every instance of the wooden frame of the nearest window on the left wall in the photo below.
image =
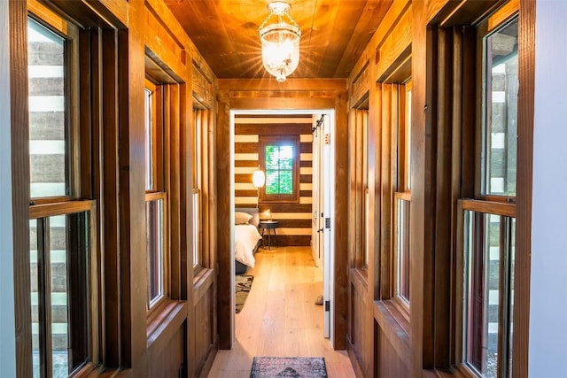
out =
[[[102,320],[101,310],[99,308],[100,304],[100,296],[101,293],[99,292],[99,282],[101,280],[101,272],[100,272],[100,261],[98,257],[98,243],[97,243],[97,200],[96,199],[86,199],[89,197],[89,191],[85,190],[85,187],[88,185],[87,183],[82,181],[83,172],[88,171],[90,172],[90,166],[92,166],[92,158],[89,154],[82,150],[81,146],[83,143],[83,139],[88,138],[92,130],[89,127],[82,127],[81,126],[81,117],[79,114],[80,109],[80,97],[81,92],[79,88],[79,82],[81,80],[82,71],[79,68],[79,60],[80,60],[80,30],[78,27],[74,25],[73,22],[65,19],[64,17],[55,14],[44,8],[41,4],[37,4],[35,2],[30,2],[27,4],[27,19],[33,19],[39,26],[45,27],[54,35],[62,38],[64,43],[64,112],[65,112],[65,164],[66,164],[66,194],[63,196],[46,196],[46,197],[31,197],[31,193],[29,193],[30,198],[28,201],[29,210],[27,214],[28,219],[28,226],[29,220],[36,220],[37,222],[43,222],[43,224],[49,223],[50,217],[55,216],[68,216],[73,214],[80,214],[86,213],[88,214],[88,221],[82,225],[80,230],[81,233],[84,232],[82,236],[88,237],[87,244],[85,245],[86,251],[88,255],[81,260],[81,264],[84,264],[86,269],[86,282],[85,282],[85,290],[87,290],[88,295],[84,298],[85,303],[82,305],[86,305],[89,308],[89,312],[86,314],[86,324],[87,327],[86,334],[88,336],[88,341],[86,343],[87,351],[86,357],[87,360],[77,366],[75,370],[72,372],[72,375],[75,376],[82,376],[89,374],[92,372],[99,363],[99,351],[101,350],[100,343],[101,340],[99,339],[99,330],[101,329]],[[27,21],[29,22],[29,21]],[[27,44],[27,42],[25,42]],[[27,77],[29,78],[29,73],[27,73]],[[29,117],[29,112],[28,112]],[[27,135],[27,143],[29,143],[30,135]],[[30,155],[27,154],[27,158],[29,159]],[[27,166],[29,168],[29,166]],[[30,188],[30,180],[28,177],[27,186]],[[37,223],[36,223],[37,224]],[[76,231],[76,229],[75,229]],[[69,228],[66,228],[66,235],[69,232]],[[45,231],[44,240],[47,241],[50,239],[50,230]],[[73,234],[73,233],[72,233]],[[73,235],[72,235],[73,236]],[[80,235],[75,235],[76,238],[80,238]],[[78,239],[74,239],[77,241]],[[73,244],[76,245],[76,244]],[[70,248],[73,248],[73,245],[66,246],[66,251],[68,252]],[[29,245],[28,252],[29,252]],[[38,246],[42,248],[41,246]],[[44,248],[47,251],[50,250],[49,245],[44,245]],[[49,263],[50,257],[46,256],[44,260],[45,263]],[[32,262],[31,259],[29,262]],[[36,263],[40,263],[41,261],[36,261]],[[68,264],[72,264],[72,260],[66,257],[66,266]],[[38,269],[40,267],[38,266]],[[48,272],[46,277],[43,277],[43,283],[38,281],[38,289],[49,289],[50,282],[45,282],[46,279],[49,279],[49,271],[51,266],[43,267],[44,272]],[[70,272],[70,268],[66,267],[66,278],[67,280],[71,280],[73,282],[74,279],[81,278],[81,277],[74,277],[73,274],[68,274]],[[71,277],[70,277],[71,275]],[[38,280],[40,277],[38,277]],[[45,285],[43,288],[40,288],[40,285]],[[29,288],[28,288],[29,289]],[[67,283],[67,290],[66,293],[68,294],[68,283]],[[43,306],[50,305],[50,299],[42,301]],[[69,298],[66,299],[67,306],[69,305]],[[45,310],[43,310],[45,312]],[[50,314],[44,313],[47,322],[50,323]],[[67,319],[67,327],[72,320]],[[50,330],[50,324],[47,326],[40,326],[43,330]],[[71,336],[69,333],[69,328],[67,328],[68,337]],[[31,334],[30,334],[31,336]],[[49,339],[50,336],[48,336]],[[44,348],[46,350],[40,351],[40,354],[46,355],[50,354],[52,351],[52,345],[47,343],[47,340],[43,340]],[[69,339],[70,343],[70,339]],[[72,349],[72,347],[71,347]],[[70,357],[70,355],[68,355]],[[19,359],[23,359],[24,361],[29,361],[31,363],[33,357],[30,355],[27,356],[19,356]],[[52,368],[52,359],[51,357],[47,358],[47,365],[40,366],[40,374],[42,376],[51,376],[52,371],[48,371],[48,369]],[[30,371],[31,373],[31,371]]]

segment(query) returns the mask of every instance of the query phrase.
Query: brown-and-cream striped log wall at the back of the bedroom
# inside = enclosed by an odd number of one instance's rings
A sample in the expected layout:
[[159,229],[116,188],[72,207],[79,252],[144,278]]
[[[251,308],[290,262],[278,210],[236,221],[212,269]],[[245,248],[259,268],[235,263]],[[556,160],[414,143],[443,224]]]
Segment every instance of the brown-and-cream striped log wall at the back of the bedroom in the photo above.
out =
[[269,209],[272,219],[278,221],[279,245],[311,245],[313,121],[309,115],[252,117],[238,114],[235,117],[236,207],[258,204],[252,173],[259,166],[260,135],[299,135],[299,204],[260,202],[260,214]]

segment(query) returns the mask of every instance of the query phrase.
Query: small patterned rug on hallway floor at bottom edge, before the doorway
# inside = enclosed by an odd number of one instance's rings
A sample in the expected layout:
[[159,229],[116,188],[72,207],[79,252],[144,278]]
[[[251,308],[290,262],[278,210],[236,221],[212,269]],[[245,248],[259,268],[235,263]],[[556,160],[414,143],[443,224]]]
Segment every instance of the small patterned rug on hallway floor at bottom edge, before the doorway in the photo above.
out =
[[322,357],[254,357],[250,378],[264,377],[327,377]]

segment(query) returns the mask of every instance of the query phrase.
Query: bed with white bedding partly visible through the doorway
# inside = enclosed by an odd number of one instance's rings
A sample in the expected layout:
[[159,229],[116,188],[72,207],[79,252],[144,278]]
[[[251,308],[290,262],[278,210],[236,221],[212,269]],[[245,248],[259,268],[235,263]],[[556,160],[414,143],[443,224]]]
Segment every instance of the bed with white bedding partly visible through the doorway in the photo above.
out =
[[254,254],[258,251],[262,236],[258,232],[260,214],[257,208],[235,209],[234,255],[236,274],[245,274],[248,267],[254,267]]

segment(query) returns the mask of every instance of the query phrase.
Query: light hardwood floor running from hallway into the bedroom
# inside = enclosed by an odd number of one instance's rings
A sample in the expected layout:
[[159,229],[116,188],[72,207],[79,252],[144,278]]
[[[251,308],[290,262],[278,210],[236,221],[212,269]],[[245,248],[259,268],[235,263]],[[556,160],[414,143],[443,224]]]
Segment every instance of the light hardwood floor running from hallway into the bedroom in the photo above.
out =
[[236,343],[219,351],[209,377],[248,378],[254,356],[324,357],[330,378],[354,377],[346,351],[334,351],[322,333],[322,270],[309,247],[256,253],[252,289],[236,314]]

